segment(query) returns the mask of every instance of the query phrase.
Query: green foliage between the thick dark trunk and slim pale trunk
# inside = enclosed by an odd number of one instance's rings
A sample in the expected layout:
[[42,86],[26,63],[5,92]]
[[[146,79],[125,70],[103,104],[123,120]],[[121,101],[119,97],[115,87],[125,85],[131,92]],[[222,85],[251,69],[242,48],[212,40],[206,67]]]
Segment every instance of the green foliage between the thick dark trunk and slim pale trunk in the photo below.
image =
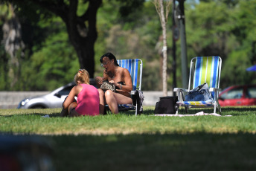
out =
[[[120,16],[115,9],[119,9],[121,5],[119,1],[103,1],[103,7],[98,11],[95,75],[102,75],[103,68],[100,68],[99,60],[102,54],[110,51],[118,59],[142,59],[144,62],[143,90],[159,90],[161,89],[159,62],[153,62],[160,57],[159,50],[155,48],[156,41],[161,35],[161,25],[156,9],[153,3],[147,1],[137,13]],[[136,16],[127,22],[127,17],[129,18],[130,15]]]

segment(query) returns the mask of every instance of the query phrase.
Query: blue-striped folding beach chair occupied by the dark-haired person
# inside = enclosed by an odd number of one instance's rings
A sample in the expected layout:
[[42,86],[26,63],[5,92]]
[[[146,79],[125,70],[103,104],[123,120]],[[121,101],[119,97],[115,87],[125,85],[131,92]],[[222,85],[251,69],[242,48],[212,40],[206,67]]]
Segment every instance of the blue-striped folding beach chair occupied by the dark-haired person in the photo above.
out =
[[[122,68],[127,68],[129,74],[132,77],[132,104],[120,104],[118,105],[118,111],[124,112],[128,110],[135,110],[135,115],[141,113],[141,101],[139,92],[141,91],[141,80],[142,80],[142,60],[141,59],[118,59],[118,65]],[[139,70],[138,70],[139,69]],[[138,72],[139,71],[139,72]],[[109,106],[106,105],[106,109]]]

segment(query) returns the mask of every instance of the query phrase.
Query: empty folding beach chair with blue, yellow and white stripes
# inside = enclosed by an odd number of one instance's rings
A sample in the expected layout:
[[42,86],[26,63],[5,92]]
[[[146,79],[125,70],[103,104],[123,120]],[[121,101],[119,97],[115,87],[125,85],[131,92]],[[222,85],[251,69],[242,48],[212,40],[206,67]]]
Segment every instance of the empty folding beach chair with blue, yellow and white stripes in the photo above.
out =
[[[178,92],[177,105],[184,106],[185,112],[188,112],[188,108],[214,108],[214,113],[216,113],[216,109],[218,108],[221,113],[220,104],[218,102],[221,65],[222,59],[220,57],[194,57],[191,59],[188,89],[173,89],[173,91]],[[191,80],[193,80],[193,82]],[[191,83],[193,83],[192,88]],[[185,93],[188,94],[188,91],[203,83],[208,84],[213,101],[185,101]],[[177,109],[176,114],[178,114],[178,110],[179,109]]]

